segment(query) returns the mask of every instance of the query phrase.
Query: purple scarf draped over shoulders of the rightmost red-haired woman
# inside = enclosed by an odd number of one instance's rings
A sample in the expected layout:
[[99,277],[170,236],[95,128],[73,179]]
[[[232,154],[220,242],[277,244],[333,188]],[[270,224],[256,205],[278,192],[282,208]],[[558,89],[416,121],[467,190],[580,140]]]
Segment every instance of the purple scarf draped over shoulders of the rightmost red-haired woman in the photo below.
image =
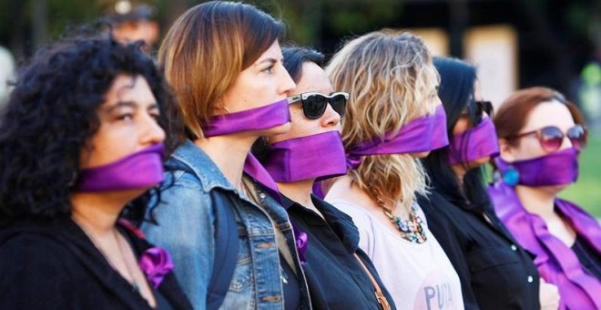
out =
[[[559,309],[601,309],[601,283],[586,274],[576,253],[549,233],[540,216],[525,210],[514,188],[499,181],[488,188],[488,193],[494,211],[507,229],[528,252],[535,254],[539,274],[559,288]],[[555,212],[563,214],[576,234],[601,253],[601,226],[595,218],[561,199],[555,199]]]

